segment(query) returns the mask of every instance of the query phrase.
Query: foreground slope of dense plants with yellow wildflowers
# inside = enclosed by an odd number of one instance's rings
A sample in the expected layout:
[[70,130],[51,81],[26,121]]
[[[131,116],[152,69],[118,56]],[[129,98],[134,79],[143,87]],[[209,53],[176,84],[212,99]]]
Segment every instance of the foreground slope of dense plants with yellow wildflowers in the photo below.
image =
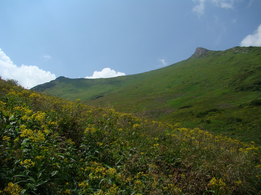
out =
[[260,146],[0,79],[2,194],[260,194]]

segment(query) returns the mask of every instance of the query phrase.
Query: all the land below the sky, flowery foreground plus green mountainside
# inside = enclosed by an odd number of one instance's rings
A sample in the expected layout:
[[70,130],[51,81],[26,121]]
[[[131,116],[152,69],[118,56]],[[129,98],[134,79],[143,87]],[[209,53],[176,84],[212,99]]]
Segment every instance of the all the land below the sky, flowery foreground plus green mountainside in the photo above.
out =
[[31,90],[0,77],[0,194],[261,194],[260,53]]

